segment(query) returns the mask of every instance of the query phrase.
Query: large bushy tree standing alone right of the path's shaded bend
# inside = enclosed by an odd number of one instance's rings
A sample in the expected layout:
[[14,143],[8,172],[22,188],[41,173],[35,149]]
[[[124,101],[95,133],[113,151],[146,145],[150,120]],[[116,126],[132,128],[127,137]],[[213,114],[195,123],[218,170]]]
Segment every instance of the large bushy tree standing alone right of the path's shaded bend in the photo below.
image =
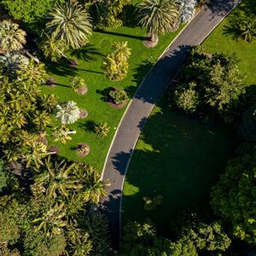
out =
[[209,56],[195,48],[179,76],[173,99],[185,112],[201,112],[207,119],[218,115],[230,122],[243,93],[243,76],[234,55]]

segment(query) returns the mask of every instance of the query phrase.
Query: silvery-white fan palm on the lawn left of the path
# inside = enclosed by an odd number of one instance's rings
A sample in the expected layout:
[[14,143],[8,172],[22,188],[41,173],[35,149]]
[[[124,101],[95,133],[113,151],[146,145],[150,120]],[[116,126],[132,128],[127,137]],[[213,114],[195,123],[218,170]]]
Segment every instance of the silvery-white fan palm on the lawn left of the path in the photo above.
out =
[[80,110],[76,102],[64,102],[61,105],[56,105],[57,113],[56,119],[61,120],[61,124],[73,124],[80,117]]

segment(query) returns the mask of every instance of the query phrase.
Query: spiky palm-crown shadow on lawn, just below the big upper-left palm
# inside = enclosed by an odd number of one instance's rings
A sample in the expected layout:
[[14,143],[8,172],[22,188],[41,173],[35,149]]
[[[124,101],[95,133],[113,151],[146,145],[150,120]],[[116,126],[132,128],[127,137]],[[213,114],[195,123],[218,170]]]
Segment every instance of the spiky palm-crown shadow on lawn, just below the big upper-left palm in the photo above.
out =
[[70,55],[84,61],[97,61],[98,59],[105,57],[105,55],[102,54],[99,49],[94,47],[93,44],[86,44],[80,49],[73,49]]

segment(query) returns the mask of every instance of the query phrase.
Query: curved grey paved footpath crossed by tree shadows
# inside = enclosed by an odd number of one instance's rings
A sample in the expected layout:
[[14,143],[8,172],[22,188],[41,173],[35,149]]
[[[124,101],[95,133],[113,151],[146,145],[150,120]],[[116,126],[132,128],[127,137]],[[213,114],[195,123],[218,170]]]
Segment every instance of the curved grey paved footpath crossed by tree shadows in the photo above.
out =
[[101,205],[102,212],[108,217],[113,247],[119,247],[125,172],[148,115],[177,73],[178,67],[185,60],[191,46],[201,44],[239,2],[239,0],[215,0],[203,7],[161,55],[126,109],[113,138],[102,173],[102,179],[109,179],[111,184],[106,188],[108,195],[101,199]]

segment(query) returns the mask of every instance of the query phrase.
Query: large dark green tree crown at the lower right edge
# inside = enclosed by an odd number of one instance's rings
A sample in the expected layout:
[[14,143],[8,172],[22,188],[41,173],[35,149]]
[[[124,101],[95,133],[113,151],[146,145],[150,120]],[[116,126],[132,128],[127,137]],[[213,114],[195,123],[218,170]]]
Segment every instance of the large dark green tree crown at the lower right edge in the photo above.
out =
[[255,245],[256,148],[252,144],[240,151],[212,187],[212,207],[218,216],[232,224],[234,236]]

